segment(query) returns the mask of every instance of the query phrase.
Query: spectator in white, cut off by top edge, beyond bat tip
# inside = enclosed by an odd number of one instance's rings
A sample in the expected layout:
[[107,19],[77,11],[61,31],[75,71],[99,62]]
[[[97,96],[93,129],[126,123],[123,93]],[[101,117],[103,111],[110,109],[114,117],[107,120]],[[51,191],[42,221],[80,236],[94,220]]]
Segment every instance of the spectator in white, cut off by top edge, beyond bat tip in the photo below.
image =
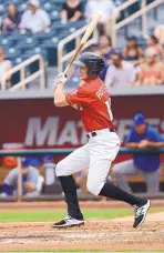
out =
[[120,13],[116,11],[115,3],[112,0],[88,0],[85,7],[85,17],[92,19],[96,13],[102,14],[99,27],[100,32],[105,32],[107,36],[110,36],[112,16],[115,17],[115,19],[120,18]]

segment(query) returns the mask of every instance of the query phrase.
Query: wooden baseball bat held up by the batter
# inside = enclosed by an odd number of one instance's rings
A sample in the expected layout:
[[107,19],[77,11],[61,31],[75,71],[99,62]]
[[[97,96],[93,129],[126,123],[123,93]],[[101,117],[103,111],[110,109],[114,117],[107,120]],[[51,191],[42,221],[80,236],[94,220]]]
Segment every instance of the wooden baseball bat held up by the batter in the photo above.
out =
[[75,58],[78,57],[78,54],[80,53],[80,51],[82,50],[82,48],[84,47],[84,44],[86,43],[86,41],[89,40],[90,36],[92,34],[92,32],[94,31],[94,28],[96,27],[98,22],[101,19],[101,14],[96,14],[93,20],[91,21],[91,23],[89,24],[84,36],[81,39],[80,44],[78,45],[78,48],[75,49],[73,57],[71,58],[68,67],[64,70],[64,74],[66,74],[68,70],[70,69],[70,67],[72,65],[73,61],[75,60]]

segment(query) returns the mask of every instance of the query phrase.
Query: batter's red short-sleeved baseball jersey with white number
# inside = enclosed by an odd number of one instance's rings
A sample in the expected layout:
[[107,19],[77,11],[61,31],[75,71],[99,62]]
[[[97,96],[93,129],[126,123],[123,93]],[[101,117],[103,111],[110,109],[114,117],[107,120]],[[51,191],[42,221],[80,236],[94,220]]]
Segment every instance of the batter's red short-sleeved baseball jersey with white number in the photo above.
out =
[[89,78],[85,84],[68,93],[66,100],[71,105],[78,104],[86,132],[114,129],[110,94],[100,78]]

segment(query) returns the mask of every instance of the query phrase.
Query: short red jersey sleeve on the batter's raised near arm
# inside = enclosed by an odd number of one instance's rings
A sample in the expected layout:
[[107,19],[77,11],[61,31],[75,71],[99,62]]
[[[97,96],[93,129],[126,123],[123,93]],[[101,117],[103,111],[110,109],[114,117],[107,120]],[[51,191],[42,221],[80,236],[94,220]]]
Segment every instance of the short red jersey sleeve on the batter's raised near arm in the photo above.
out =
[[73,92],[66,94],[68,103],[73,104],[88,104],[90,101],[90,98],[88,95],[88,92],[84,88],[78,88]]

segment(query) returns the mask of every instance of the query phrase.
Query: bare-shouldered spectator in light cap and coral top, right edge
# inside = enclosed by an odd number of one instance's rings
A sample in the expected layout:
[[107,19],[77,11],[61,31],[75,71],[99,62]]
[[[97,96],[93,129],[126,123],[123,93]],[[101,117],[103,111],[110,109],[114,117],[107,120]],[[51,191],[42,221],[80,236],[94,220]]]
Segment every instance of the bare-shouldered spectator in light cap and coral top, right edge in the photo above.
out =
[[164,63],[157,59],[156,50],[146,50],[146,61],[137,73],[137,85],[156,85],[164,83]]

